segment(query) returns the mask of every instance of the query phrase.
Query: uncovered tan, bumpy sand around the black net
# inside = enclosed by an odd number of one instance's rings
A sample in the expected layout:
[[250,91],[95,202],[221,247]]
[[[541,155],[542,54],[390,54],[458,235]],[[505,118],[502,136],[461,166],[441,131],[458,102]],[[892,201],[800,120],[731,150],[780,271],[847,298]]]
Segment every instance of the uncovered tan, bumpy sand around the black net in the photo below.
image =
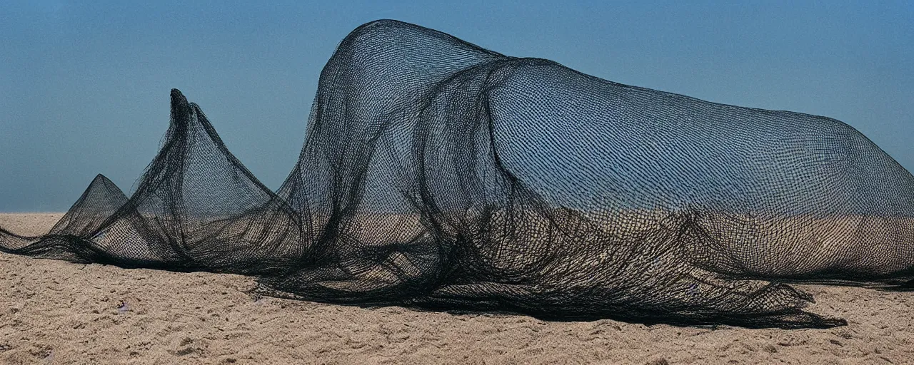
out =
[[[60,214],[0,214],[23,235]],[[914,364],[914,293],[798,286],[831,329],[359,308],[256,297],[252,278],[0,254],[0,363]]]

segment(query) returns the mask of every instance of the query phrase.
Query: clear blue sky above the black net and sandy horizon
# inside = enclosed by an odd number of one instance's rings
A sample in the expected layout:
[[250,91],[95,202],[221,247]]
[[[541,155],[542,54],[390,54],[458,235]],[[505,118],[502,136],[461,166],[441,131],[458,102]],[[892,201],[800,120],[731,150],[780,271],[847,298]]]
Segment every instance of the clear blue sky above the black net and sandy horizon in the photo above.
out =
[[0,1],[0,212],[65,211],[97,173],[130,193],[172,88],[279,187],[324,62],[379,18],[625,84],[843,120],[914,171],[910,1],[141,3]]

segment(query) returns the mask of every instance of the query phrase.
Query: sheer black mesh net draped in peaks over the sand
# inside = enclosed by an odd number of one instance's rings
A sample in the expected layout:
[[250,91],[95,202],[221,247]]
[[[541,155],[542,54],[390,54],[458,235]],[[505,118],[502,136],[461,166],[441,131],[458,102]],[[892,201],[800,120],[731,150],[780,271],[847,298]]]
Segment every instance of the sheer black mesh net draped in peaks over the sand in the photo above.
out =
[[273,192],[177,90],[127,197],[99,175],[7,253],[258,276],[331,303],[831,327],[785,282],[903,289],[914,177],[838,120],[636,88],[428,28],[356,28]]

